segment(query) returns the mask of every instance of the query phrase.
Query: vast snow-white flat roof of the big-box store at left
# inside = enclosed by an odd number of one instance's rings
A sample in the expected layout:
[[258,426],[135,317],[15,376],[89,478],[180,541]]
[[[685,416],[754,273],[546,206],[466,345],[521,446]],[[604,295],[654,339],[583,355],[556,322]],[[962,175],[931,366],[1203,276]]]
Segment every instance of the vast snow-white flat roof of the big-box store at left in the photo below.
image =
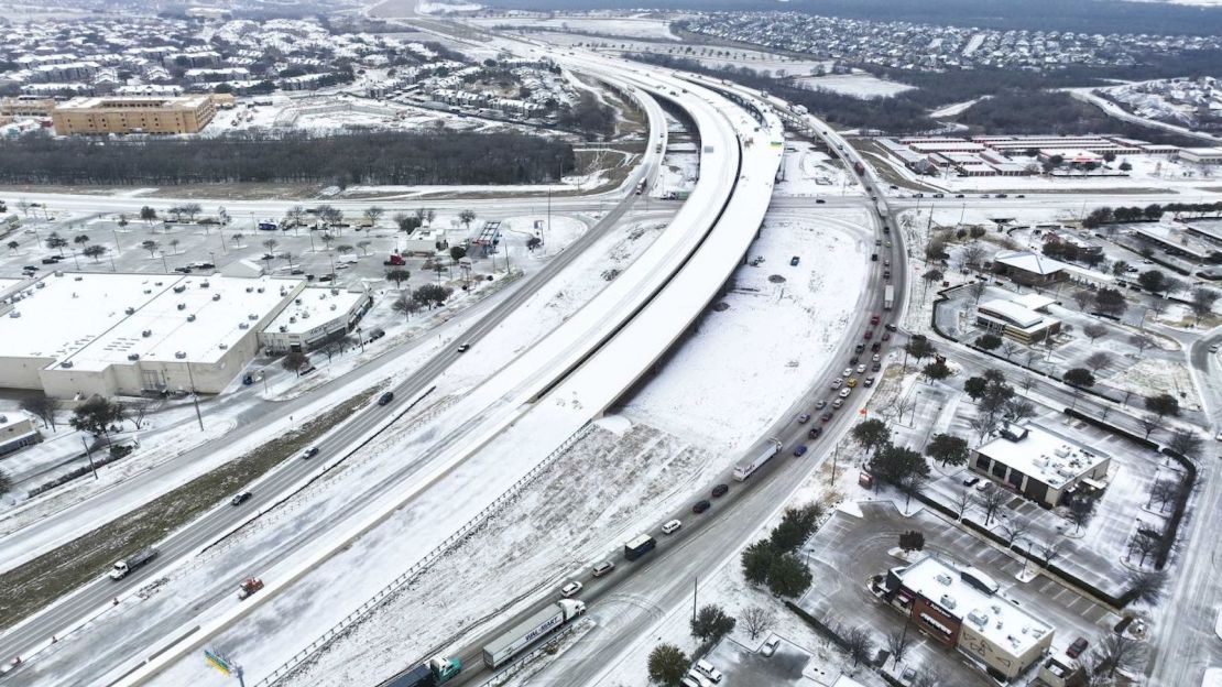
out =
[[[132,359],[211,363],[304,280],[56,273],[0,318],[0,357],[105,369]],[[138,358],[132,358],[138,356]]]

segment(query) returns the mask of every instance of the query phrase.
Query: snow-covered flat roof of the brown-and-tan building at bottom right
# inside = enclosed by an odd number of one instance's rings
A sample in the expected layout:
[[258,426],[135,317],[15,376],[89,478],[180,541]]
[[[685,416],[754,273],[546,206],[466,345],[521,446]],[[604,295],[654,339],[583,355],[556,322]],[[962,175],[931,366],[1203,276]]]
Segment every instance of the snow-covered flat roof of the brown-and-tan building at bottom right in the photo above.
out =
[[1013,601],[968,582],[973,579],[970,568],[926,556],[895,572],[904,587],[960,619],[995,648],[1013,656],[1022,656],[1052,632],[1051,625],[1028,615]]

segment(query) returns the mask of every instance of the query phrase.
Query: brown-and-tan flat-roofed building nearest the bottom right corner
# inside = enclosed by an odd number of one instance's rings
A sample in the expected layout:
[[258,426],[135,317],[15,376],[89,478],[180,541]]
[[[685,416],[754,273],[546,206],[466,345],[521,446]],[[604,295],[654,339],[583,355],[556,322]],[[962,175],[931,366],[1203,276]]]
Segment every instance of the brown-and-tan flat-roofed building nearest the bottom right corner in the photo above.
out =
[[998,594],[984,572],[926,556],[887,571],[876,590],[935,641],[1008,681],[1052,645],[1053,628]]

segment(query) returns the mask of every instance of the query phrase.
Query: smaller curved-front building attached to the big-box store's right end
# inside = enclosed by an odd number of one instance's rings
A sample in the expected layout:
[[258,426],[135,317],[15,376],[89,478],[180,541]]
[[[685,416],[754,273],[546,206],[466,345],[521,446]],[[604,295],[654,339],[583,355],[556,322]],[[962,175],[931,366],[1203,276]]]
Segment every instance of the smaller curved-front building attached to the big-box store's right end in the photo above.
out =
[[367,288],[304,288],[259,334],[259,342],[269,353],[312,351],[356,329],[371,306]]

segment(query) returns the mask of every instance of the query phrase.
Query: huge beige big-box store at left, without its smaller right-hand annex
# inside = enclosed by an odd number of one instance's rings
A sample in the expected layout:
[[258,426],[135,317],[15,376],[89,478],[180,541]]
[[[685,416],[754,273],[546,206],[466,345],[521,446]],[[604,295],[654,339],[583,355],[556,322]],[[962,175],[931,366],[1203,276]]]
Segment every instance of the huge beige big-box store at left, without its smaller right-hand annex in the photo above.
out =
[[0,388],[216,394],[303,279],[54,273],[0,302]]

